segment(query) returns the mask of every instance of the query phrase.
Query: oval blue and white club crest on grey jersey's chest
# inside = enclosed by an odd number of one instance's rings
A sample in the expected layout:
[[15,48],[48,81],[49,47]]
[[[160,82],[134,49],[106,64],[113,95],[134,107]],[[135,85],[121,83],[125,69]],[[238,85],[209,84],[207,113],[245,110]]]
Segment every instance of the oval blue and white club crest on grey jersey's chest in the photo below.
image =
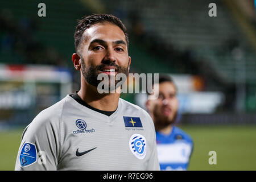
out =
[[146,138],[141,134],[133,134],[129,140],[130,150],[138,159],[144,159],[147,153]]

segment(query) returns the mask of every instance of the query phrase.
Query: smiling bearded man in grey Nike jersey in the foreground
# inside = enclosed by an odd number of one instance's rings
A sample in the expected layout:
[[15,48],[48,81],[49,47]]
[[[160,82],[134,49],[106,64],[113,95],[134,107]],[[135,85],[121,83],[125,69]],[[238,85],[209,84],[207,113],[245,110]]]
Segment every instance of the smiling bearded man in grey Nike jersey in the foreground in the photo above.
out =
[[81,74],[80,90],[27,126],[16,170],[160,169],[150,115],[119,98],[119,92],[98,92],[98,76],[129,73],[128,44],[125,26],[113,15],[94,14],[79,21],[72,61]]

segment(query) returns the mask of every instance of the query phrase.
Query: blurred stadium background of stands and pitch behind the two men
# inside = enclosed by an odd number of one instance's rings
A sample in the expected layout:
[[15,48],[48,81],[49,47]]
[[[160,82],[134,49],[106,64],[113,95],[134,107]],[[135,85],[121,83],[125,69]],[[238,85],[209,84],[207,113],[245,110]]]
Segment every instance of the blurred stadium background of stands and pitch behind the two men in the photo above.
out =
[[[42,2],[45,17],[38,16]],[[210,17],[212,2],[217,16]],[[80,75],[71,61],[73,32],[77,19],[92,13],[114,14],[125,23],[131,73],[167,73],[187,79],[184,83],[191,87],[188,92],[181,89],[177,125],[195,144],[189,170],[256,169],[254,1],[0,3],[0,170],[14,169],[22,131],[35,115],[79,89]],[[43,76],[31,81],[29,74],[36,74],[31,73],[33,69]],[[19,74],[28,74],[27,80],[18,79]],[[183,84],[182,79],[177,82]],[[201,95],[205,102],[196,100]],[[121,97],[143,107],[136,94]],[[209,151],[216,151],[217,164],[209,164]]]

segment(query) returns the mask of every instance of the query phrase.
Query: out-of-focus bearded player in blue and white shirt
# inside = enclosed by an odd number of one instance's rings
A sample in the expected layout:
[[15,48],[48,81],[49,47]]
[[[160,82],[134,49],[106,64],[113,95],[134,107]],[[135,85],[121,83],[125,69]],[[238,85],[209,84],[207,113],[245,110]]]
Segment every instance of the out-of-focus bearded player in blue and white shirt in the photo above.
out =
[[175,126],[179,101],[172,78],[159,76],[159,96],[147,100],[146,107],[153,118],[161,170],[187,170],[193,150],[193,140]]

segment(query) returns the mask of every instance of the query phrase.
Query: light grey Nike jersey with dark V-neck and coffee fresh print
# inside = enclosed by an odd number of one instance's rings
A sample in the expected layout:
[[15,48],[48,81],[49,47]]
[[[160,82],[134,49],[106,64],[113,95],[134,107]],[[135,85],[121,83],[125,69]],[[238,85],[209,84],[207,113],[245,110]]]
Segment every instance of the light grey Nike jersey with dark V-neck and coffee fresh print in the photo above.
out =
[[107,116],[66,96],[26,127],[15,170],[159,170],[154,123],[119,98]]

